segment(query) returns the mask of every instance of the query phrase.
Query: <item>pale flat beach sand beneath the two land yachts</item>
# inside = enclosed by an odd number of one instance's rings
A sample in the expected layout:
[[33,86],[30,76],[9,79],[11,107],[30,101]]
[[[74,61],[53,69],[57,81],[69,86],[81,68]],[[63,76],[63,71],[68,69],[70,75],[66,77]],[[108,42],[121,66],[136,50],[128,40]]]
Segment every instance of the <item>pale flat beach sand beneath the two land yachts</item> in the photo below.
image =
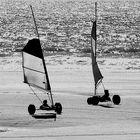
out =
[[[104,85],[121,104],[89,106],[93,77],[89,65],[49,65],[48,73],[55,102],[63,112],[54,119],[34,119],[28,105],[40,102],[24,84],[22,71],[0,72],[0,140],[138,140],[140,138],[140,86],[138,70],[102,69]],[[98,92],[101,92],[99,88]],[[45,95],[39,96],[45,98]]]

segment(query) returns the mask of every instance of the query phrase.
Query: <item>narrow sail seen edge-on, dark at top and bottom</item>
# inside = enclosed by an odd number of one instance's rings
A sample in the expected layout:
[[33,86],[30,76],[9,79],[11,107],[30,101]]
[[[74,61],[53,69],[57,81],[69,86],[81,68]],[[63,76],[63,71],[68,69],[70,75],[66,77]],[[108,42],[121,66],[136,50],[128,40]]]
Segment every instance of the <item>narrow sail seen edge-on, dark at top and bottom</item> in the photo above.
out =
[[93,22],[92,30],[91,30],[91,58],[92,58],[92,71],[95,81],[95,89],[98,86],[98,84],[103,79],[103,76],[100,72],[100,69],[98,67],[98,64],[96,62],[96,21]]

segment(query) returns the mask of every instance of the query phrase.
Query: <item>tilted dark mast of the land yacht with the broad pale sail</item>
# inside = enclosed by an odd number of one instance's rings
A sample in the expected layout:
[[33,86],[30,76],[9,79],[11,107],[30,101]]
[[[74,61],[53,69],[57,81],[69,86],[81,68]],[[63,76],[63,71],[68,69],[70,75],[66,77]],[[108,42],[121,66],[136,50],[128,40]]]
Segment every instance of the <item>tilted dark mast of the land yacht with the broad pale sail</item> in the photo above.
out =
[[[38,37],[38,39],[40,41],[39,33],[38,33],[38,28],[37,28],[37,24],[36,24],[36,20],[35,20],[35,16],[34,16],[32,5],[30,5],[30,8],[31,8],[32,16],[33,16],[33,21],[34,21],[34,25],[35,25],[35,29],[36,29],[36,34],[37,34],[37,37]],[[42,50],[42,52],[43,52],[43,50]],[[47,83],[48,83],[48,87],[50,89],[49,92],[50,92],[51,102],[52,102],[52,105],[54,105],[54,101],[53,101],[53,97],[52,97],[52,92],[51,92],[51,86],[50,86],[50,82],[49,82],[49,77],[48,77],[48,73],[47,73],[47,68],[46,68],[44,56],[42,57],[42,60],[43,60],[43,66],[44,66],[44,70],[45,70],[46,80],[47,80]]]

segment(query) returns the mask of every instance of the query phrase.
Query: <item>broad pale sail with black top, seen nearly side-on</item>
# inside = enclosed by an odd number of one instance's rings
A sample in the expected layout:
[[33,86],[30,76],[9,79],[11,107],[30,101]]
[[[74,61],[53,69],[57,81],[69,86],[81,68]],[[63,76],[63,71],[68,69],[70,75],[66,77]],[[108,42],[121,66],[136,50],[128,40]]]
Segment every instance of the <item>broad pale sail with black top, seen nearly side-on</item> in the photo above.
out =
[[22,50],[24,83],[51,90],[39,39],[29,40]]

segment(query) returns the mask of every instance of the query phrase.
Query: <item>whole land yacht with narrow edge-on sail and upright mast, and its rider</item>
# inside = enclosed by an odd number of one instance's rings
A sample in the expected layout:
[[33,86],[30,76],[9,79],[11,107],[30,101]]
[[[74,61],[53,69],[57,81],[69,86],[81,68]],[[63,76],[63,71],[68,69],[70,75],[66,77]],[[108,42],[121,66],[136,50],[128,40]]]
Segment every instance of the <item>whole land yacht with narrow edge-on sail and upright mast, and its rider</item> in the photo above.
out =
[[[99,102],[111,101],[111,98],[109,97],[109,91],[106,90],[103,85],[102,81],[103,76],[96,60],[96,49],[97,49],[97,2],[95,2],[95,21],[93,22],[91,30],[91,60],[92,60],[92,72],[94,77],[94,95],[87,99],[87,103],[89,105],[98,105]],[[104,88],[103,96],[97,95],[97,88],[100,85],[100,83],[102,83]],[[115,105],[118,105],[121,101],[120,96],[114,95],[112,101]]]

